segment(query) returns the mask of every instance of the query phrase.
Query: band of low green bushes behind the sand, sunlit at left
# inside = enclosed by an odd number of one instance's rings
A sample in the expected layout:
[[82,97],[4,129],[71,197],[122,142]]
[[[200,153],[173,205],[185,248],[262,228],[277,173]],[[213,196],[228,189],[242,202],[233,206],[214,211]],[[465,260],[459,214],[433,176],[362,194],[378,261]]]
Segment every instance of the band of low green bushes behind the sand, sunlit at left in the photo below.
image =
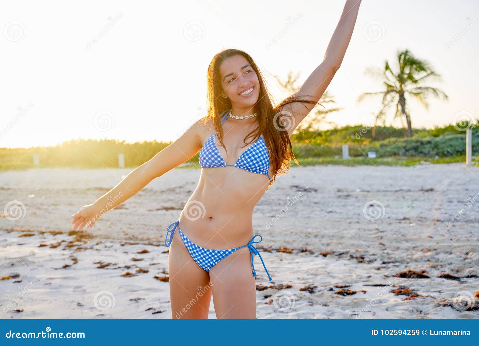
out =
[[[318,133],[303,131],[291,138],[293,151],[302,166],[310,165],[417,165],[465,162],[466,134],[457,124],[442,128],[414,129],[414,137],[405,137],[405,129],[355,125]],[[479,152],[479,124],[473,129],[472,150]],[[125,167],[134,168],[148,161],[168,146],[165,142],[125,143],[118,140],[72,140],[61,145],[31,148],[0,148],[0,171],[34,168],[33,156],[38,154],[38,167],[102,168],[118,167],[118,154],[125,155]],[[341,158],[342,145],[349,144],[351,159]],[[376,158],[367,152],[375,151]],[[435,158],[437,156],[437,158]],[[292,166],[296,166],[294,162]],[[198,154],[182,167],[198,167]]]

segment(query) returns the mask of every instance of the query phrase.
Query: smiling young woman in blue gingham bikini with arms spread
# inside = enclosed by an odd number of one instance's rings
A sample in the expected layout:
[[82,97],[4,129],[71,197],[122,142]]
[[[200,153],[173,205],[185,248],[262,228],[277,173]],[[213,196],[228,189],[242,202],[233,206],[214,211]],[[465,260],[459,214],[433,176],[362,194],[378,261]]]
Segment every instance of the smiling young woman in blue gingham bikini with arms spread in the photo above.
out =
[[126,201],[201,149],[198,186],[165,238],[171,245],[173,318],[207,318],[211,296],[217,318],[256,317],[255,255],[272,277],[254,247],[262,237],[253,236],[253,208],[276,175],[287,172],[289,161],[296,162],[289,137],[341,66],[360,2],[346,1],[323,61],[297,93],[277,106],[251,56],[237,49],[215,55],[207,72],[208,115],[72,215],[73,229],[90,228],[108,206]]

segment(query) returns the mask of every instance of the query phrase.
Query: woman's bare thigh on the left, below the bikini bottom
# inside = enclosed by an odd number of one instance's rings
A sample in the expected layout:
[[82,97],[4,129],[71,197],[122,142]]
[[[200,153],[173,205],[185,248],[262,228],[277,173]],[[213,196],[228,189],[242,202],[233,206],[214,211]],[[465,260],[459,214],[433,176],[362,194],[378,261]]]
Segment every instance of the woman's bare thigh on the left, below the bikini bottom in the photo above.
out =
[[168,254],[172,318],[208,318],[209,274],[196,264],[175,231]]

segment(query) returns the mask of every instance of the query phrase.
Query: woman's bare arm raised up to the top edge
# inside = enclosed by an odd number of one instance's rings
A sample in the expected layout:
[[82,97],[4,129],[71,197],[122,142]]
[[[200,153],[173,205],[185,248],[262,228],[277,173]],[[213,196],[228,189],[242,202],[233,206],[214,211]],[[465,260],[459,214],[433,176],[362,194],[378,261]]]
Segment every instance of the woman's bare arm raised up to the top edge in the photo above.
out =
[[[326,49],[323,61],[316,67],[293,96],[305,96],[308,100],[319,102],[319,99],[342,64],[342,59],[344,58],[353,34],[360,4],[361,0],[346,1],[339,23]],[[294,116],[294,122],[292,122],[294,125],[288,128],[288,133],[292,134],[297,125],[311,112],[316,104],[292,102],[285,106],[289,107],[284,110],[291,112]]]

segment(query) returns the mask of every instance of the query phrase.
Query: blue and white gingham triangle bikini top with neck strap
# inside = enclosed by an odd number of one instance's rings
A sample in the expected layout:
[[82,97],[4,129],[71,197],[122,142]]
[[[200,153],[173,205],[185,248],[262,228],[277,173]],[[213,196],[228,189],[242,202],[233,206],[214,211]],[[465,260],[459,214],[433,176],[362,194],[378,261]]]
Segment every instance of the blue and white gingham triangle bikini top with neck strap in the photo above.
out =
[[[221,119],[221,124],[225,123],[228,119],[229,111],[231,109],[226,110],[223,114]],[[264,143],[263,135],[261,134],[260,137],[256,142],[248,147],[236,160],[234,165],[227,165],[223,157],[219,154],[218,148],[215,143],[216,132],[211,134],[211,136],[205,141],[205,144],[200,150],[200,154],[198,157],[199,163],[203,168],[214,168],[214,167],[226,167],[226,166],[233,166],[238,167],[243,170],[252,172],[252,173],[259,173],[265,174],[271,181],[271,178],[268,174],[269,166],[270,166],[270,156],[268,153],[268,149],[266,147],[266,143]]]

